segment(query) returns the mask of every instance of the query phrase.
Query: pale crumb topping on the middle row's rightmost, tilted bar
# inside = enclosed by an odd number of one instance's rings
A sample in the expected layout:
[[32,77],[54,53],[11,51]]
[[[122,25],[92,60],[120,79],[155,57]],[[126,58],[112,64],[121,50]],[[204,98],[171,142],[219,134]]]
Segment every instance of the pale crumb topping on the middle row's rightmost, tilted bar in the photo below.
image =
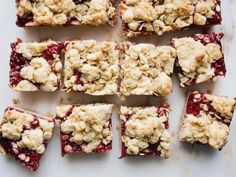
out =
[[224,75],[223,71],[216,74],[213,67],[214,63],[223,59],[220,44],[210,42],[204,45],[191,37],[174,39],[173,43],[178,57],[177,65],[181,70],[179,77],[182,87]]

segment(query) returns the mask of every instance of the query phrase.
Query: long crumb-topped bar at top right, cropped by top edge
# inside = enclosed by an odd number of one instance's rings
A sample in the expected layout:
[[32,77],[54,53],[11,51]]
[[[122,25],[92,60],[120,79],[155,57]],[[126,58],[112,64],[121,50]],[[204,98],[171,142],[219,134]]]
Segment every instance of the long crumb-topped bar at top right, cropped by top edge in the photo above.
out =
[[122,0],[120,12],[128,37],[221,22],[218,0]]

